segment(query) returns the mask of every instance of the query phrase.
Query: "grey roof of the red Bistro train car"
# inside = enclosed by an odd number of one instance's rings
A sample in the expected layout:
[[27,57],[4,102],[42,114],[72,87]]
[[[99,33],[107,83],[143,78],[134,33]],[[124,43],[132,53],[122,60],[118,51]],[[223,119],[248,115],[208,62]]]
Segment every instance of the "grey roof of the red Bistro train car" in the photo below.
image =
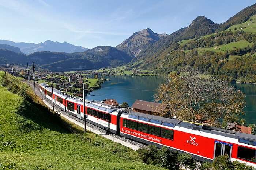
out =
[[[221,128],[217,128],[217,127],[207,126],[204,124],[185,122],[185,121],[181,121],[181,120],[177,120],[177,119],[163,118],[160,116],[149,115],[149,114],[144,114],[144,113],[139,113],[139,112],[124,112],[123,114],[128,115],[130,118],[138,119],[138,120],[142,120],[140,118],[150,119],[150,120],[148,120],[148,122],[149,121],[151,122],[151,120],[156,120],[156,121],[161,122],[161,123],[157,123],[157,124],[162,124],[162,125],[165,125],[164,123],[170,123],[173,125],[170,127],[178,126],[178,127],[184,127],[184,128],[188,128],[188,129],[192,129],[192,130],[203,131],[206,133],[222,135],[225,137],[243,138],[243,139],[249,139],[249,140],[256,141],[256,135],[221,129]],[[151,122],[151,123],[154,123],[154,122]]]

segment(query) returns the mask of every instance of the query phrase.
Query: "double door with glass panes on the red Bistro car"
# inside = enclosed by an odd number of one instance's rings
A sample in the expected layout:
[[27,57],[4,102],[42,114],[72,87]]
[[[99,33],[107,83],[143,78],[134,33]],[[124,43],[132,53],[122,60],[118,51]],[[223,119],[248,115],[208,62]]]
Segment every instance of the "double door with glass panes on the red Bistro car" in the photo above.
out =
[[231,161],[231,154],[232,154],[232,144],[221,142],[221,141],[214,142],[213,158],[218,157],[219,155],[229,155],[229,160]]

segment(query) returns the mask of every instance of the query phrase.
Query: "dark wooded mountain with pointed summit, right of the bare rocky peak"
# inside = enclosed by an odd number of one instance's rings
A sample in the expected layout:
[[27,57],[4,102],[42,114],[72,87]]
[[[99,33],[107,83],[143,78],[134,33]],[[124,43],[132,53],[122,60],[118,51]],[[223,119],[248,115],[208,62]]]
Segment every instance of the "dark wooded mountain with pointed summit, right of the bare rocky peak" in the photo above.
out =
[[219,24],[212,22],[210,19],[207,19],[204,16],[198,16],[188,27],[181,28],[172,34],[161,38],[159,41],[149,44],[136,55],[136,58],[133,59],[133,61],[157,58],[159,55],[165,55],[167,51],[172,50],[173,46],[178,41],[214,33],[218,26]]

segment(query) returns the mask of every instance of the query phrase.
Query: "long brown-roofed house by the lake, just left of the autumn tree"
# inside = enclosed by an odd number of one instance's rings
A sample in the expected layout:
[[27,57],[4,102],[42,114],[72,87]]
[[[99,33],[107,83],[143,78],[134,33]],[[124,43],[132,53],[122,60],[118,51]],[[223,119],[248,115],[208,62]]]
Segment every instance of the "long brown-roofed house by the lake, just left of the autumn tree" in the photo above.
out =
[[161,106],[161,103],[148,102],[143,100],[136,100],[132,104],[132,110],[145,114],[154,114],[154,108]]

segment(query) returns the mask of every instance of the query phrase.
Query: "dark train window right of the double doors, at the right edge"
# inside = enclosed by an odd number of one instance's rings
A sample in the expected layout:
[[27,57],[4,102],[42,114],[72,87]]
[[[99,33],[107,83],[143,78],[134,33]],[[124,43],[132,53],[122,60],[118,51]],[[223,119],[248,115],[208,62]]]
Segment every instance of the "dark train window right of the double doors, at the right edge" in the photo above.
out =
[[256,162],[256,150],[238,146],[237,157],[248,161]]

